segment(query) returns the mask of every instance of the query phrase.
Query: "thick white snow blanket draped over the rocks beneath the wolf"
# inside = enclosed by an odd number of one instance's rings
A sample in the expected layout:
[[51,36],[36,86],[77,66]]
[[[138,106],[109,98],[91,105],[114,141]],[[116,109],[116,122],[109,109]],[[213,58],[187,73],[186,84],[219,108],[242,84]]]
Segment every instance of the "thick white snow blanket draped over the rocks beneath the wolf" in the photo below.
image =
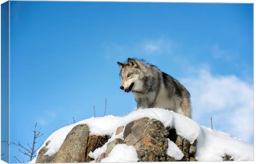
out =
[[[125,127],[129,122],[143,117],[155,118],[157,120],[160,120],[165,127],[168,127],[169,129],[175,128],[177,134],[190,141],[191,144],[197,139],[198,150],[195,157],[198,161],[219,161],[222,160],[222,156],[224,156],[225,153],[231,155],[234,160],[253,160],[252,144],[232,138],[229,134],[226,134],[224,132],[199,126],[192,119],[175,113],[173,111],[157,108],[136,110],[123,117],[115,117],[113,115],[97,118],[92,117],[86,120],[82,120],[80,122],[76,122],[73,125],[62,127],[61,129],[52,133],[46,139],[45,143],[47,141],[50,141],[50,143],[46,146],[48,150],[45,155],[50,156],[55,154],[62,145],[64,139],[66,138],[66,135],[76,125],[87,124],[90,129],[90,135],[110,135],[111,139],[109,139],[109,141],[107,142],[109,143],[116,138],[123,139],[123,132],[117,136],[114,135],[117,127]],[[41,148],[45,146],[45,143]],[[100,157],[101,153],[106,151],[107,143],[105,143],[104,146],[102,146],[101,148],[97,148],[94,152],[90,152],[89,156],[94,159]],[[171,152],[171,150],[168,149],[167,153],[174,158],[180,159],[181,154],[176,149],[177,146],[173,146],[173,143],[169,141],[168,145],[170,145],[174,150],[173,152]],[[121,147],[124,148],[125,146]],[[116,149],[122,149],[121,147],[118,146]],[[126,153],[126,149],[124,150],[125,151],[122,153]],[[130,153],[128,154],[130,155]],[[109,160],[113,160],[111,162],[114,162],[114,160],[119,160],[113,159],[114,157],[115,155],[112,155],[111,157],[109,157]],[[125,159],[122,158],[120,160]]]

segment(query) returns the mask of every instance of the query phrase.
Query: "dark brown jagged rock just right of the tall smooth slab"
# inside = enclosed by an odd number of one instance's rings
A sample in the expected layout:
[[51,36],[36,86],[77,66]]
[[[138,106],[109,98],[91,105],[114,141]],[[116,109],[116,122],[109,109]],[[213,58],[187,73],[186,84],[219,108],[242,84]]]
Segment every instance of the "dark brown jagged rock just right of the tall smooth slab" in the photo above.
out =
[[89,136],[88,144],[87,144],[87,148],[86,148],[85,162],[92,161],[93,159],[89,157],[89,153],[93,152],[97,148],[102,147],[109,140],[109,138],[110,138],[110,136],[108,136],[108,135]]

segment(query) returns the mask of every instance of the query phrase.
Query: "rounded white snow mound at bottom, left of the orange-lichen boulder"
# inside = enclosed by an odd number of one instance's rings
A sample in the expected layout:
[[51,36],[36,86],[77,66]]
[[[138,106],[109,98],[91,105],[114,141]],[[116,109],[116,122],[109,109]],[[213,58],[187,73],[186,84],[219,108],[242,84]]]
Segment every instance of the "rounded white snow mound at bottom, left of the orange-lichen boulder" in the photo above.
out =
[[137,152],[133,146],[117,144],[101,162],[138,162]]

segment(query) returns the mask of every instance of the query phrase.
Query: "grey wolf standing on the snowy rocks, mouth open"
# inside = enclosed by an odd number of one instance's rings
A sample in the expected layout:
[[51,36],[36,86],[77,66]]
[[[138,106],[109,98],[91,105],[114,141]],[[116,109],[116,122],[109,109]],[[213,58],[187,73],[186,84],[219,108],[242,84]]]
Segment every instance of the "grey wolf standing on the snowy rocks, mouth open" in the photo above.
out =
[[133,92],[137,109],[162,108],[191,118],[190,92],[178,80],[144,60],[128,58],[117,64],[120,89]]

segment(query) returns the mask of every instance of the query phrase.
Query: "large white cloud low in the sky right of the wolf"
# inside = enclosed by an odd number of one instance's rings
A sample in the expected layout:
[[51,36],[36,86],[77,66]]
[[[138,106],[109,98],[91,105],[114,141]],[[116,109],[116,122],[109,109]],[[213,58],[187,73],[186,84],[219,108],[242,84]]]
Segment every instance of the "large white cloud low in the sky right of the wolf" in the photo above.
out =
[[181,80],[190,91],[193,119],[232,136],[251,141],[253,135],[253,85],[230,76],[213,76],[207,69]]

